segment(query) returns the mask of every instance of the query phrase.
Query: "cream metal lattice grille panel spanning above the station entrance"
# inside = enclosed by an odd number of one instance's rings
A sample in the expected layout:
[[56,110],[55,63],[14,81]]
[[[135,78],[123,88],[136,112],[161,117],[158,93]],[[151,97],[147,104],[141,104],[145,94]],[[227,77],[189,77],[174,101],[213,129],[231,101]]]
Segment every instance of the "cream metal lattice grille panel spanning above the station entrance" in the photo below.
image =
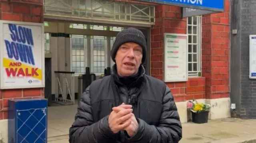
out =
[[114,0],[44,0],[44,14],[153,24],[155,7]]

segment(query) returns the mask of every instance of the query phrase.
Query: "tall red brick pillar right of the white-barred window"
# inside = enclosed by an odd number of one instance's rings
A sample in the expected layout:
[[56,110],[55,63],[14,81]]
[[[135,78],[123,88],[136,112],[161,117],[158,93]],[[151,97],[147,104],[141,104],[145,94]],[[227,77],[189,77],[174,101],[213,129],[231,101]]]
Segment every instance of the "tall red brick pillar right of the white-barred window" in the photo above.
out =
[[229,0],[225,12],[202,18],[202,76],[206,78],[206,98],[226,98],[230,92]]

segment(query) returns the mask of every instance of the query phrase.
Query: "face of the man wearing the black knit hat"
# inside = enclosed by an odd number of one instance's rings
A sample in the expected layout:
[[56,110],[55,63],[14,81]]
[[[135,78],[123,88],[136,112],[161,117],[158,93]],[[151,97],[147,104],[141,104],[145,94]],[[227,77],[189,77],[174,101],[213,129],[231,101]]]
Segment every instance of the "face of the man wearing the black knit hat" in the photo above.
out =
[[116,53],[116,68],[120,76],[131,76],[138,72],[142,60],[142,47],[136,43],[121,45]]

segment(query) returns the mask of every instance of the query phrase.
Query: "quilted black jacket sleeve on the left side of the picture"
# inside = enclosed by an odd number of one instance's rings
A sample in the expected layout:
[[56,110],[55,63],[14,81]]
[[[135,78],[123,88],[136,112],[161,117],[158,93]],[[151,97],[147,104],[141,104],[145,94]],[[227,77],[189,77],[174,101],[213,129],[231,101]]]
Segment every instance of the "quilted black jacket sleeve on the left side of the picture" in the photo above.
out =
[[104,143],[114,136],[108,126],[108,116],[94,123],[89,86],[82,94],[75,121],[69,129],[69,143]]

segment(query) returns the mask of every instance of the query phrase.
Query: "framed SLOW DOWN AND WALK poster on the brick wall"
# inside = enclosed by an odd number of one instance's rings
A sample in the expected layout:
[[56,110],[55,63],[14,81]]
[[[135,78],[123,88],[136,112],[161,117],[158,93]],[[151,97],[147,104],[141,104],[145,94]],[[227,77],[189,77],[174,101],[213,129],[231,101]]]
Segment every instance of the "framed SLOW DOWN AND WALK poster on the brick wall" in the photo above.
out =
[[1,89],[44,87],[44,25],[0,20]]

